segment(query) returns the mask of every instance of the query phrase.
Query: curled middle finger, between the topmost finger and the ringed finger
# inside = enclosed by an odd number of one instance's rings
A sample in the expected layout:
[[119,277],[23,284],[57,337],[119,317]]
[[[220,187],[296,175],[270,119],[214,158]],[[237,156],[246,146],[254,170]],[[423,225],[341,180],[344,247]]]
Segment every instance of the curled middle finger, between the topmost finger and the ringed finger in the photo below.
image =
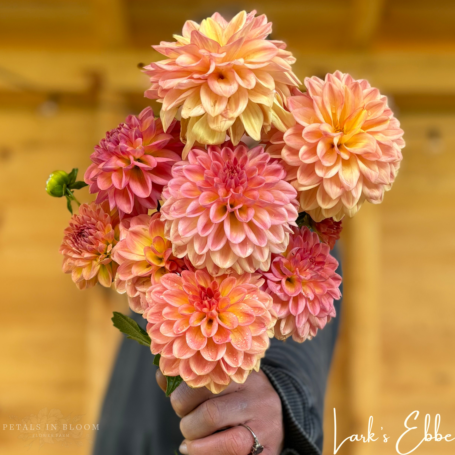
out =
[[217,430],[233,427],[254,417],[248,396],[227,394],[208,399],[180,421],[182,435],[190,440],[205,438]]

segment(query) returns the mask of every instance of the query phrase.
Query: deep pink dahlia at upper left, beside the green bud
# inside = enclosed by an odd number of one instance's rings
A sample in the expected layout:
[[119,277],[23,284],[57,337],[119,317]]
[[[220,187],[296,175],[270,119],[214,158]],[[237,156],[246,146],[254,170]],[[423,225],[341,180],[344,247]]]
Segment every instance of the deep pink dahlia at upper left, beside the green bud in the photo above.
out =
[[172,165],[180,160],[183,144],[179,124],[173,122],[163,131],[150,107],[138,117],[128,116],[125,123],[108,131],[91,155],[85,173],[96,202],[109,199],[111,209],[125,213],[147,213],[157,208],[157,200],[171,178]]

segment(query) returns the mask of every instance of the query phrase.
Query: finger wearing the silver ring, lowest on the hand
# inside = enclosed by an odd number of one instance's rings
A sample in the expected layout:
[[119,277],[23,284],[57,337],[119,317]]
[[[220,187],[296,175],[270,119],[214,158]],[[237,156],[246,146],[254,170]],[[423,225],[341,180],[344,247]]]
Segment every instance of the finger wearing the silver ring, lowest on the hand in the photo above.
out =
[[188,455],[248,455],[254,444],[251,433],[241,426],[184,442]]

